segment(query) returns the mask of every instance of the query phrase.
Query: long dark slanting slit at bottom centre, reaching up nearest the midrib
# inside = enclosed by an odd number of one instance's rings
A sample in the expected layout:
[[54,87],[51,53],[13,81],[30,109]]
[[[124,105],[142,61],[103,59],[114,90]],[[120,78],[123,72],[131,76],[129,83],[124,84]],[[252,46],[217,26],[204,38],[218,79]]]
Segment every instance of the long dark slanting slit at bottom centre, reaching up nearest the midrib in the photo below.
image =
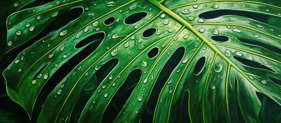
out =
[[[183,55],[185,52],[184,47],[178,48],[169,58],[163,69],[161,70],[159,77],[154,78],[157,79],[155,86],[152,90],[152,94],[149,97],[147,102],[147,108],[145,108],[142,114],[142,122],[153,122],[153,114],[155,112],[157,100],[159,98],[159,94],[164,87],[166,81],[168,80],[169,76],[171,75],[172,71],[178,66],[181,62]],[[175,82],[176,83],[176,82]],[[163,92],[164,93],[164,92]],[[166,93],[166,92],[165,92]]]

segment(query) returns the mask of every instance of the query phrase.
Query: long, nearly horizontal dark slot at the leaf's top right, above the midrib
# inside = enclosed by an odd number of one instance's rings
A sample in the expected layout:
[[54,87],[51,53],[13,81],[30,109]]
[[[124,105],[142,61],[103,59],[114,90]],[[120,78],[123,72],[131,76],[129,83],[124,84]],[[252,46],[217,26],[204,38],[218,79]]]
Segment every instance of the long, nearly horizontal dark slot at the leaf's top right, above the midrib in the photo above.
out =
[[[214,10],[214,11],[208,11],[204,12],[199,15],[199,18],[202,19],[211,19],[211,18],[217,18],[223,15],[236,15],[236,16],[243,16],[243,17],[248,17],[254,20],[257,20],[258,22],[263,22],[266,24],[269,24],[271,26],[277,26],[276,24],[273,23],[268,23],[268,20],[271,18],[270,15],[262,14],[262,13],[254,13],[254,12],[247,12],[247,11],[237,11],[237,10]],[[276,21],[278,22],[281,21],[280,18],[275,18],[277,19]]]

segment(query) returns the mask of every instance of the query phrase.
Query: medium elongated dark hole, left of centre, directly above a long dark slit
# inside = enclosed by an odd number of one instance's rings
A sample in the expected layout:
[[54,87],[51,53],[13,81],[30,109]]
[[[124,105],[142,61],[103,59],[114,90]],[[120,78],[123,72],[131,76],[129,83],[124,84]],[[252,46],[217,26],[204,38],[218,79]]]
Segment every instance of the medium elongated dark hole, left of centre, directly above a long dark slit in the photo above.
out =
[[101,40],[103,40],[104,37],[105,37],[104,33],[95,33],[95,34],[81,40],[79,43],[77,43],[75,45],[75,48],[79,49],[79,48],[82,48],[86,45],[90,45],[94,42],[101,42]]

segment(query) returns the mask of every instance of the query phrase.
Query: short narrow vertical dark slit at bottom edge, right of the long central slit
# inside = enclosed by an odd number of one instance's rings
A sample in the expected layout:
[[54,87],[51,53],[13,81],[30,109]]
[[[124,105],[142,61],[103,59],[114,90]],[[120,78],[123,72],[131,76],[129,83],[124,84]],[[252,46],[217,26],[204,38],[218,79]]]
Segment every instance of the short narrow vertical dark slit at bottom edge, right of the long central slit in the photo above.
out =
[[191,122],[189,118],[188,111],[188,91],[184,92],[183,101],[182,101],[182,122]]

